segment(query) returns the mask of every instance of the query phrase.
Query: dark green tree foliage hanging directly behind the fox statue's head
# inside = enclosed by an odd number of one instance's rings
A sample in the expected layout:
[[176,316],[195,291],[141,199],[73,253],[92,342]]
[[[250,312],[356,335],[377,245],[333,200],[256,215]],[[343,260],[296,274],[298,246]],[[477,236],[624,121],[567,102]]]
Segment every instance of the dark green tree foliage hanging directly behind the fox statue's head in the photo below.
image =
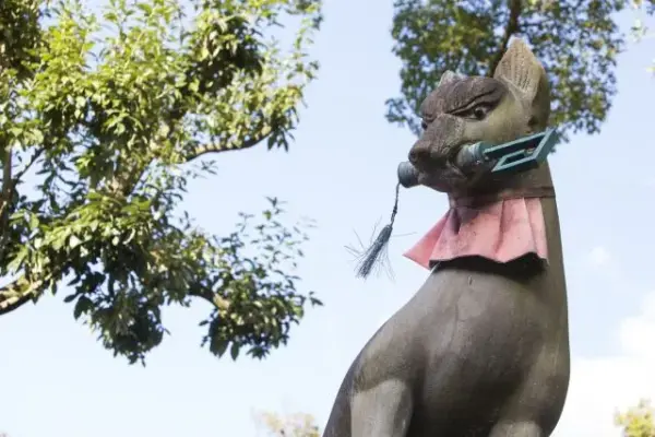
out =
[[491,75],[513,36],[524,37],[551,82],[551,122],[561,132],[597,132],[616,94],[624,46],[611,0],[395,0],[392,36],[402,60],[402,96],[386,118],[420,131],[418,107],[445,70]]

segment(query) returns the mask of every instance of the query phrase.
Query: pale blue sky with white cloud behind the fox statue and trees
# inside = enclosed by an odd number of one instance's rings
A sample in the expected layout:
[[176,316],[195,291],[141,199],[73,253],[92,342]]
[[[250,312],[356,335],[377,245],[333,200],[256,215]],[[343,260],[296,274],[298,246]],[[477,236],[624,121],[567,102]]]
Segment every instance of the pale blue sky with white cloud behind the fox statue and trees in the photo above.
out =
[[[218,175],[194,182],[186,208],[201,226],[231,231],[238,211],[264,196],[288,202],[289,220],[318,222],[299,274],[325,303],[309,311],[287,347],[263,362],[216,359],[199,347],[209,311],[171,308],[172,335],[147,367],[115,359],[61,302],[0,318],[0,430],[11,437],[257,435],[255,411],[297,411],[324,424],[346,368],[377,328],[425,281],[402,258],[445,211],[443,194],[402,193],[390,259],[394,279],[354,277],[345,245],[369,235],[393,202],[395,168],[414,142],[389,125],[384,101],[400,88],[391,54],[391,1],[330,0],[289,153],[264,146],[219,156]],[[621,16],[628,26],[631,15]],[[551,157],[563,232],[573,374],[555,436],[618,437],[615,408],[655,399],[655,54],[646,40],[619,60],[619,95],[598,135],[575,135]]]

